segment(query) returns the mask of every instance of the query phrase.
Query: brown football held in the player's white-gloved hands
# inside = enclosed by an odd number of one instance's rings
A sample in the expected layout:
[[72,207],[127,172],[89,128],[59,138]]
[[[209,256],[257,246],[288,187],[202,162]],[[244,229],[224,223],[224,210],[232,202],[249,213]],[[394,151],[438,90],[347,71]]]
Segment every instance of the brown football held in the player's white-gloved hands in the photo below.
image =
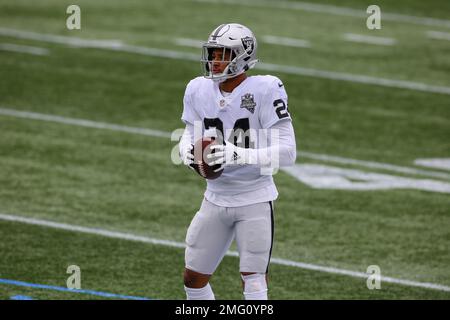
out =
[[197,142],[194,144],[194,148],[192,149],[192,153],[194,155],[194,164],[192,164],[191,166],[203,178],[210,180],[217,179],[223,172],[223,169],[214,172],[214,170],[220,168],[220,164],[210,166],[206,162],[207,160],[206,156],[211,152],[213,152],[210,146],[213,145],[214,143],[215,143],[214,138],[198,139]]

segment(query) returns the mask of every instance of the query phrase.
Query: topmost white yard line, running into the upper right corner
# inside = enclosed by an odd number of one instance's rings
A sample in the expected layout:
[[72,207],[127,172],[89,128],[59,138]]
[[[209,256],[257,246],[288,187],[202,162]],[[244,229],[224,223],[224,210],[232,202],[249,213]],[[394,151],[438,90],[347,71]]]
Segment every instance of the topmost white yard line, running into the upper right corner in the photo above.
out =
[[[288,9],[299,10],[306,12],[325,13],[337,16],[367,18],[369,15],[366,13],[367,7],[361,7],[361,9],[353,9],[348,7],[333,6],[327,4],[317,4],[311,2],[293,2],[293,1],[268,1],[268,0],[193,0],[195,2],[202,3],[216,3],[216,4],[233,4],[250,7],[262,7],[262,8],[276,8],[276,9]],[[424,26],[436,26],[450,28],[450,20],[438,19],[431,17],[419,17],[399,13],[384,12],[381,7],[381,19],[386,21],[405,22]]]

